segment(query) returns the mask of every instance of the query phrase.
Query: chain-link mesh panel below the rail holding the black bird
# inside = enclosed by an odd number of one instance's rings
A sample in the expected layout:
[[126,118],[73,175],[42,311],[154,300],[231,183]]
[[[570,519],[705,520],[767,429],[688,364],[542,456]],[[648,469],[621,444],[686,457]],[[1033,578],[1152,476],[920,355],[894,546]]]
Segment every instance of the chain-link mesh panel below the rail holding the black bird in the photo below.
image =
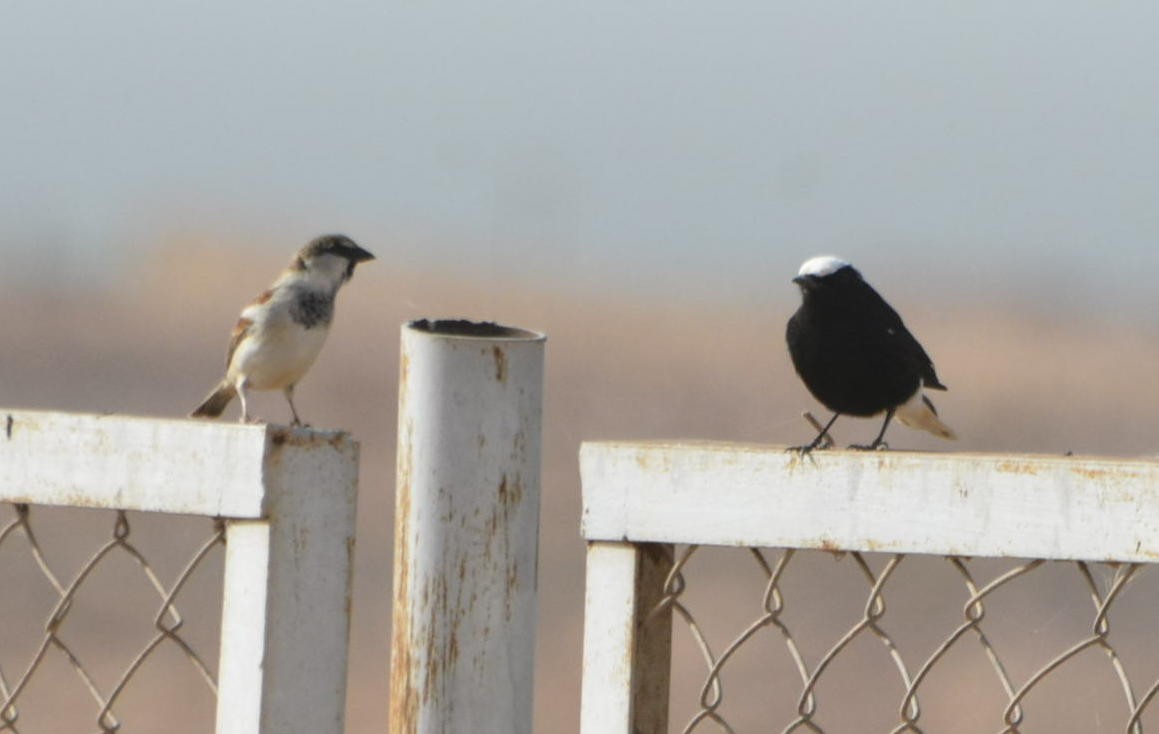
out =
[[1142,734],[1157,580],[1137,564],[680,546],[646,624],[672,612],[685,734]]

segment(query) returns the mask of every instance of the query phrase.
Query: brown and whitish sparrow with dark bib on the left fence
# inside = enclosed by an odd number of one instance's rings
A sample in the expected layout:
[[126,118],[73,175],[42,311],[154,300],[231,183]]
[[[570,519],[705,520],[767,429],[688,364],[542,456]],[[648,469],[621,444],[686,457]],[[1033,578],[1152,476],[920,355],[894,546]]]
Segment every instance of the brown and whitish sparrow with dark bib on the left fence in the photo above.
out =
[[250,301],[233,327],[225,379],[194,408],[190,417],[217,417],[234,395],[241,398],[241,422],[249,423],[250,390],[280,390],[293,414],[293,388],[314,364],[334,318],[334,298],[355,266],[374,255],[341,234],[322,235],[294,255],[274,285]]

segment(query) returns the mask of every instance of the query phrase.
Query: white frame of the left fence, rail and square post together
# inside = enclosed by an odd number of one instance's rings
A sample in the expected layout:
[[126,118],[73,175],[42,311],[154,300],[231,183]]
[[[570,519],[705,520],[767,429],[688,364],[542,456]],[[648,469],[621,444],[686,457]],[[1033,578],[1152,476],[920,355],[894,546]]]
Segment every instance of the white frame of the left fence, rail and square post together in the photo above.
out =
[[[0,502],[21,517],[59,506],[221,518],[220,734],[343,731],[357,484],[358,445],[342,433],[0,409]],[[117,523],[122,533],[123,514]],[[17,518],[10,532],[21,530]],[[82,582],[61,580],[53,618]],[[180,588],[159,591],[160,620]],[[20,731],[37,664],[0,667],[0,731]],[[89,681],[95,729],[119,727],[117,697],[134,673]]]

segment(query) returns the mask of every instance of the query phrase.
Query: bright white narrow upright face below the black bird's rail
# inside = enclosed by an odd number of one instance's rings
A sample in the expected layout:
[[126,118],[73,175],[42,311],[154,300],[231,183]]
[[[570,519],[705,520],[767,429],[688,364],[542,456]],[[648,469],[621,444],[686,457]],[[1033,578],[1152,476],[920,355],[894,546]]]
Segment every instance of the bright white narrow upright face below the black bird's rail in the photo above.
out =
[[632,732],[637,569],[630,543],[588,545],[581,734]]

